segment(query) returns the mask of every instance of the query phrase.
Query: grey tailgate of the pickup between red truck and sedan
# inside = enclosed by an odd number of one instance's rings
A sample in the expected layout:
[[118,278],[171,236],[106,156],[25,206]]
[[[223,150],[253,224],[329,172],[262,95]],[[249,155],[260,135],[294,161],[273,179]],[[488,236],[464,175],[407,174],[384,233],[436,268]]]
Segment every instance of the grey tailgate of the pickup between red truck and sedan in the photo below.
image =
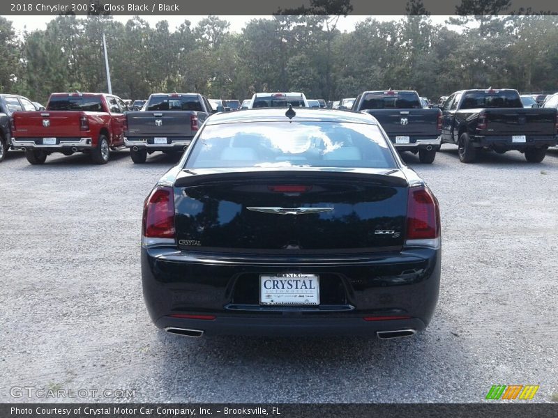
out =
[[129,137],[193,137],[190,117],[195,111],[130,111]]

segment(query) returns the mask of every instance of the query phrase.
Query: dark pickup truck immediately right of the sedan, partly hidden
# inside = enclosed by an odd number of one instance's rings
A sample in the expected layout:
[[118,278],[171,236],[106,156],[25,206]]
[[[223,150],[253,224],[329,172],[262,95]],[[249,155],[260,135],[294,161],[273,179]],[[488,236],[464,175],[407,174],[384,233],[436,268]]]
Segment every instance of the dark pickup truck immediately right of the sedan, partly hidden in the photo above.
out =
[[418,153],[425,164],[434,161],[441,144],[442,112],[423,109],[416,91],[365,91],[351,110],[374,116],[398,151]]

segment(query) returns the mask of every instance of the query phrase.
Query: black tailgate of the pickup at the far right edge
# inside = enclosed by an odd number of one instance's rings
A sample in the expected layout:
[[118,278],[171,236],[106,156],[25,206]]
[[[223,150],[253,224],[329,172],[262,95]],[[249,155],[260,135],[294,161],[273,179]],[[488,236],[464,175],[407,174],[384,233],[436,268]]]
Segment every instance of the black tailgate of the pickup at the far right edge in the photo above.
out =
[[484,109],[487,134],[556,134],[556,109]]

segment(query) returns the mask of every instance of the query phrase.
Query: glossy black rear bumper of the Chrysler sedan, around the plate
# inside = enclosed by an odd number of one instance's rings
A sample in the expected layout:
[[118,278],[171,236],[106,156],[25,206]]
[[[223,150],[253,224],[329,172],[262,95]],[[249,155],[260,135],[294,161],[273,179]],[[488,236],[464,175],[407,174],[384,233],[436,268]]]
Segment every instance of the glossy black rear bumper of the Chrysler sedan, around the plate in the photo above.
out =
[[[259,274],[285,272],[319,275],[321,304],[259,304]],[[142,247],[144,300],[153,323],[207,334],[416,332],[435,311],[439,279],[440,249],[297,259]]]

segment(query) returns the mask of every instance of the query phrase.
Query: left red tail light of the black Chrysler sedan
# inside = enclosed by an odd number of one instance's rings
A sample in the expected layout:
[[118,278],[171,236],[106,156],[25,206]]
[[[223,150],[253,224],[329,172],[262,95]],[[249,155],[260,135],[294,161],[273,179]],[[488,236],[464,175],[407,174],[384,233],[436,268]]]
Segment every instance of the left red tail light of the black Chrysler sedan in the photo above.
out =
[[174,244],[174,192],[158,186],[145,199],[143,244]]

